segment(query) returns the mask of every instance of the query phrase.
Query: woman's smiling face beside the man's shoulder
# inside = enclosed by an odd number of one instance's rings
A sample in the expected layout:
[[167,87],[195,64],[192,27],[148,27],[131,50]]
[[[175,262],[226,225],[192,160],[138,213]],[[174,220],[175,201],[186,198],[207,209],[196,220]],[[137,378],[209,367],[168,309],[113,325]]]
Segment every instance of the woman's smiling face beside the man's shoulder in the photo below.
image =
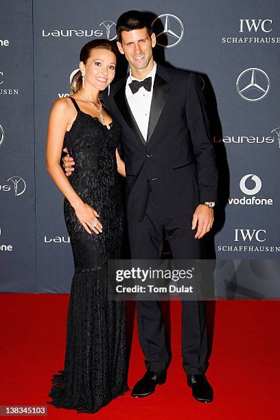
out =
[[104,48],[93,48],[86,62],[81,61],[80,70],[85,72],[84,81],[99,91],[104,91],[115,77],[117,58],[112,51]]

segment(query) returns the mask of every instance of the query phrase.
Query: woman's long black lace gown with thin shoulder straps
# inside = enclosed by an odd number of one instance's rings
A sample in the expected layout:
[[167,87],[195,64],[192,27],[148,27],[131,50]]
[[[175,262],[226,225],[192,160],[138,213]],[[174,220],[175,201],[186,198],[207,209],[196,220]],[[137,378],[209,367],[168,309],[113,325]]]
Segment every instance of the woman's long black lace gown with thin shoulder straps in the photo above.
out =
[[115,149],[120,127],[78,115],[65,135],[75,161],[69,181],[100,215],[103,232],[91,235],[65,199],[65,221],[75,264],[67,315],[65,369],[52,377],[47,401],[58,408],[96,412],[128,390],[125,303],[107,299],[107,261],[120,258],[124,213]]

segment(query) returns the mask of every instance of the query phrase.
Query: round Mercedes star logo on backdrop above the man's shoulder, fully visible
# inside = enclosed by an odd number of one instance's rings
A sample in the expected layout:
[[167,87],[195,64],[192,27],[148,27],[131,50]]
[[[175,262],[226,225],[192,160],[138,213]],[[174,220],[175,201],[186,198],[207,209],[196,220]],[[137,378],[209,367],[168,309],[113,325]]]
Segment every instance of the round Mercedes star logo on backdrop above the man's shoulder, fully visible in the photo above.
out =
[[240,73],[236,81],[236,89],[246,101],[259,101],[268,94],[270,80],[265,71],[252,67]]

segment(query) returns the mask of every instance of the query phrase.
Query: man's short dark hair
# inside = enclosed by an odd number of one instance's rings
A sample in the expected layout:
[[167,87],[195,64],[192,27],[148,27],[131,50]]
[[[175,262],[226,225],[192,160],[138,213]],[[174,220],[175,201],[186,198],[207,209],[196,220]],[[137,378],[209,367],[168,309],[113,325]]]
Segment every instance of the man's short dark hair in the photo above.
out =
[[122,31],[133,31],[136,29],[147,28],[148,34],[152,35],[152,25],[147,14],[140,12],[139,10],[128,10],[124,12],[117,19],[117,38],[121,42]]

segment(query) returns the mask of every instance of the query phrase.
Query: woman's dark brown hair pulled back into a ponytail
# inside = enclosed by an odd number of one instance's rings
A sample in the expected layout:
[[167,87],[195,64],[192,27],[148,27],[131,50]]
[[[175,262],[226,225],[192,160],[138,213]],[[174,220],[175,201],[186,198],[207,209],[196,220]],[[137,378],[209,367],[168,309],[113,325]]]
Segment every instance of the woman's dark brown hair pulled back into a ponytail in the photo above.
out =
[[[89,60],[89,56],[91,55],[91,50],[93,48],[104,48],[108,49],[108,51],[112,51],[115,56],[117,57],[118,50],[113,41],[110,41],[108,39],[94,39],[89,41],[89,43],[86,43],[84,47],[82,47],[80,51],[80,61],[82,61],[84,64],[86,64],[87,60]],[[79,89],[82,87],[82,72],[79,70],[77,73],[73,75],[73,78],[71,80],[71,89],[72,92],[78,92]]]

